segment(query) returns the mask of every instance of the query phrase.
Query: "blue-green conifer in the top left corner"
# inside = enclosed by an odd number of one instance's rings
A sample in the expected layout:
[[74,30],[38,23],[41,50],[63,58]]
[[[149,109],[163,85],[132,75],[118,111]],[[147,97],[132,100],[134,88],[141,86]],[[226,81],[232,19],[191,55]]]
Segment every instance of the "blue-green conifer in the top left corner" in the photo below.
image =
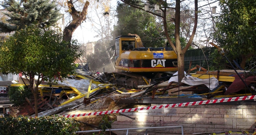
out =
[[3,0],[0,4],[6,11],[6,21],[0,22],[1,32],[12,32],[26,26],[44,27],[54,25],[61,18],[61,13],[52,0]]

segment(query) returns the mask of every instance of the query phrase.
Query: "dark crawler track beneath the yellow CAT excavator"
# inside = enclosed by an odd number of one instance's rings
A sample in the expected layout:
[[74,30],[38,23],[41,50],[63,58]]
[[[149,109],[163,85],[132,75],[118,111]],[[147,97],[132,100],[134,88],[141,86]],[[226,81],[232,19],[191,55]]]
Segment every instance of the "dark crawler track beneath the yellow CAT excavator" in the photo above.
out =
[[[111,83],[116,83],[118,86],[126,88],[138,88],[139,85],[146,85],[145,76],[131,72],[114,72],[108,73],[110,78],[114,76]],[[143,78],[144,77],[144,78]]]

